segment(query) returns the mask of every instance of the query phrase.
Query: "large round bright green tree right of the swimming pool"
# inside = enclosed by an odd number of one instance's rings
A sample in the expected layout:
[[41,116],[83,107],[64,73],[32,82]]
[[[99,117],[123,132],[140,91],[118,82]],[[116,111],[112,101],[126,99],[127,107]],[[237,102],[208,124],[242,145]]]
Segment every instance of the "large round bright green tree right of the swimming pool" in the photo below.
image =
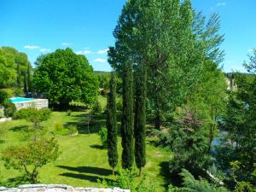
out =
[[72,49],[57,49],[40,56],[33,76],[35,89],[49,102],[62,108],[69,102],[92,104],[96,101],[98,81],[84,55]]

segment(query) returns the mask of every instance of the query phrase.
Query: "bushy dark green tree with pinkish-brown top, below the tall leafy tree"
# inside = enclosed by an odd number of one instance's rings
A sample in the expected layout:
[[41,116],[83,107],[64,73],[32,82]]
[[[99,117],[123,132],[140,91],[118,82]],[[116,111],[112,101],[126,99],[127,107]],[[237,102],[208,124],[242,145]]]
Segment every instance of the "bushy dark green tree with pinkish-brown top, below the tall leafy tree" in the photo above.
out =
[[190,108],[178,108],[175,119],[176,125],[169,129],[173,151],[170,171],[175,175],[184,168],[200,175],[213,163],[207,152],[207,128],[196,111]]

